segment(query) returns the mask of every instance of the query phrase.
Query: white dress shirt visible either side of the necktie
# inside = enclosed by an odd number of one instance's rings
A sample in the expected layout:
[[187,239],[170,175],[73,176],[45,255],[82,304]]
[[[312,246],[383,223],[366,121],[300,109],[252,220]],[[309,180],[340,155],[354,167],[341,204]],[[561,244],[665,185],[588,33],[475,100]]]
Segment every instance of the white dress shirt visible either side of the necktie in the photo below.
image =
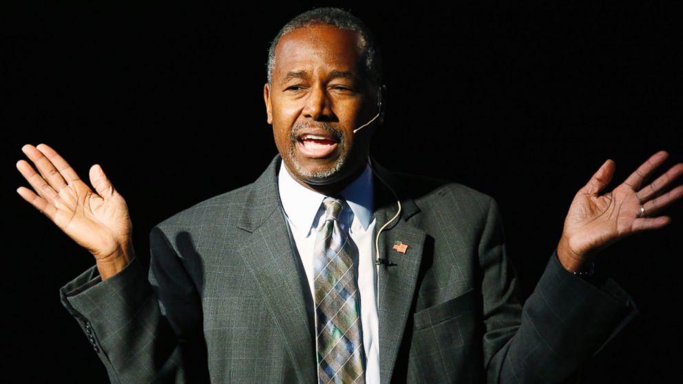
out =
[[[315,228],[324,213],[322,200],[326,196],[299,184],[285,167],[284,161],[281,162],[280,172],[277,175],[277,187],[280,190],[287,224],[292,229],[304,270],[306,270],[311,297],[315,297],[313,245],[315,244]],[[375,257],[373,257],[375,217],[372,215],[373,190],[370,167],[368,158],[363,173],[339,193],[346,200],[344,209],[339,215],[339,226],[342,231],[348,228],[348,234],[358,247],[359,255],[354,255],[357,257],[354,263],[358,263],[357,283],[361,304],[361,332],[366,355],[366,383],[379,384],[379,319],[375,301],[377,277]],[[315,329],[317,330],[317,326]]]

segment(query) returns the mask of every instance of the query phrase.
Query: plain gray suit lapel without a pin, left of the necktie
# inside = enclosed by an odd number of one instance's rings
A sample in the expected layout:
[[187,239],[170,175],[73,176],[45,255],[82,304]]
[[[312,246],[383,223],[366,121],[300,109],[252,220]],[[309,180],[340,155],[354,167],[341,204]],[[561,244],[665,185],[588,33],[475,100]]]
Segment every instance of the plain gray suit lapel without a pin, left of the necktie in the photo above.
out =
[[249,266],[302,383],[315,381],[315,350],[306,303],[277,189],[280,156],[252,184],[238,227],[251,235],[238,252]]

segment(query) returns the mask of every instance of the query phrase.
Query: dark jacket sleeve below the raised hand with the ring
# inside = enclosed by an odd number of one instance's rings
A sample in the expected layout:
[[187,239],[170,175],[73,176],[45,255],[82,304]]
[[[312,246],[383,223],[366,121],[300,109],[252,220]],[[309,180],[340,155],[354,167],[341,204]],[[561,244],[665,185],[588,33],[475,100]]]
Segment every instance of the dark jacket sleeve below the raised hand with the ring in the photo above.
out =
[[479,243],[483,269],[487,383],[567,383],[638,315],[613,279],[588,281],[567,271],[554,250],[523,306],[505,250],[498,204],[490,201]]

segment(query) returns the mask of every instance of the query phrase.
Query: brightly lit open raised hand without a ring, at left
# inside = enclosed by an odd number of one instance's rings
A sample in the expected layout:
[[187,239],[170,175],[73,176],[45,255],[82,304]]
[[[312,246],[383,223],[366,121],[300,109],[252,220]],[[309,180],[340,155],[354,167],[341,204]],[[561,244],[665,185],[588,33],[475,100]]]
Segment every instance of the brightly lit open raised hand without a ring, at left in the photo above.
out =
[[102,279],[122,270],[134,257],[132,222],[125,200],[102,168],[98,164],[90,167],[94,193],[48,145],[27,144],[21,150],[40,173],[19,160],[17,169],[36,192],[20,186],[17,193],[92,253]]

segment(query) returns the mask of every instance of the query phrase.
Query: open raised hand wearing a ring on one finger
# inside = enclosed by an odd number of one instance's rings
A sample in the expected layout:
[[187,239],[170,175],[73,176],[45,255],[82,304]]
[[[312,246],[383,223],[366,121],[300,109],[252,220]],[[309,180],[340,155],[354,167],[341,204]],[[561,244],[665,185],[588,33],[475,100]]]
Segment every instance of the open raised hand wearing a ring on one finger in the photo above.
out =
[[683,163],[642,185],[667,157],[666,151],[653,154],[613,191],[598,195],[616,170],[615,162],[607,160],[588,184],[579,189],[569,206],[558,243],[558,258],[565,269],[585,270],[596,253],[619,239],[669,224],[669,216],[658,214],[683,197],[683,185],[668,192],[665,189],[683,174]]

